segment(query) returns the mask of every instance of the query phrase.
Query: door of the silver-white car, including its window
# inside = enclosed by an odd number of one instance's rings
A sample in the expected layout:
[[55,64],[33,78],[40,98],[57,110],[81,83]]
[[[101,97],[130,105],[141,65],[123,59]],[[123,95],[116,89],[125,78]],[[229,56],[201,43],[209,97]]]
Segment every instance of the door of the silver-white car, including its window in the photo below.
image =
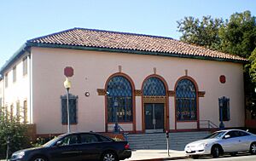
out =
[[221,141],[224,152],[238,152],[240,148],[239,144],[239,133],[237,130],[229,131]]

